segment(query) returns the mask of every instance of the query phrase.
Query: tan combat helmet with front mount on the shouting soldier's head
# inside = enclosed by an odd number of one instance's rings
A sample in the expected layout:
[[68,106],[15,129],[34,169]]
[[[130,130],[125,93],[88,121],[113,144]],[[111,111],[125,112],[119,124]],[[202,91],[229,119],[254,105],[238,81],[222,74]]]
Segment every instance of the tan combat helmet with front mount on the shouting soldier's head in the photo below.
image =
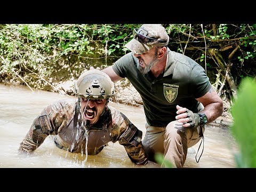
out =
[[77,79],[75,94],[86,99],[108,99],[114,95],[114,83],[99,68],[91,67]]

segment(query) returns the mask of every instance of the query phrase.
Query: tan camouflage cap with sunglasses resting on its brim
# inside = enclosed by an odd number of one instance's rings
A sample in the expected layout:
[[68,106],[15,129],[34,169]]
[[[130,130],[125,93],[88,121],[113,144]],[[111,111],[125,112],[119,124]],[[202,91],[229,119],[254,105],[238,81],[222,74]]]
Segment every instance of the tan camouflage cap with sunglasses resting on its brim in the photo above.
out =
[[142,37],[149,37],[149,40],[156,40],[149,41],[147,43],[140,43],[137,40],[138,37],[133,38],[129,43],[125,45],[125,47],[127,47],[133,53],[142,54],[150,50],[154,46],[165,46],[169,43],[169,36],[167,35],[165,28],[161,24],[144,24],[138,30],[135,30],[136,33],[142,35]]

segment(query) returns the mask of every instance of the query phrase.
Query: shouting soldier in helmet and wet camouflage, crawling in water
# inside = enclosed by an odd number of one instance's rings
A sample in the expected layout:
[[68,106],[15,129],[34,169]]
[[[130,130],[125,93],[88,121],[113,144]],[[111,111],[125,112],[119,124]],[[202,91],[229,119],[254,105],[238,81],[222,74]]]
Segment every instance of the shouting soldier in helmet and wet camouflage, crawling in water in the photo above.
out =
[[34,119],[20,151],[34,151],[48,135],[55,145],[72,153],[97,155],[108,142],[118,141],[131,161],[147,164],[142,131],[114,107],[108,106],[114,83],[99,69],[85,71],[75,84],[77,100],[59,100],[43,109]]

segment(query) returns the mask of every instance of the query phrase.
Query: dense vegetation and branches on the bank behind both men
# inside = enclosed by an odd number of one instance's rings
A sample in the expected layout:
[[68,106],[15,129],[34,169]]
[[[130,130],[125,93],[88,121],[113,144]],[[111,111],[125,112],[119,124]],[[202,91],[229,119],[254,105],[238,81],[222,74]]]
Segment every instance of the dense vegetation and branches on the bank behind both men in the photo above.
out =
[[[140,24],[0,25],[0,82],[59,91],[90,66],[105,68],[129,52]],[[169,48],[200,65],[223,99],[236,97],[245,76],[255,77],[256,24],[163,24]],[[124,84],[129,82],[124,81]]]

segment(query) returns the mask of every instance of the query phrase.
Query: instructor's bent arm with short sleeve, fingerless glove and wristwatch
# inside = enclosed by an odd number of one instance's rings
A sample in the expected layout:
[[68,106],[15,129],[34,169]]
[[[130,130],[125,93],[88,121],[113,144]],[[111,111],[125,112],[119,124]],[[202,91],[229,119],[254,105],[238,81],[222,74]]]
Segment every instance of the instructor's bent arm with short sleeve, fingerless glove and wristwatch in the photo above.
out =
[[178,115],[175,118],[178,119],[179,122],[186,122],[186,124],[183,124],[183,127],[195,127],[201,125],[199,114],[205,114],[207,123],[210,123],[221,116],[223,112],[223,101],[212,87],[204,68],[197,63],[193,64],[193,62],[191,62],[191,65],[194,65],[194,67],[190,73],[188,93],[197,101],[201,102],[204,109],[198,111],[198,113],[193,113],[190,109],[182,108],[184,106],[177,106],[176,113]]

